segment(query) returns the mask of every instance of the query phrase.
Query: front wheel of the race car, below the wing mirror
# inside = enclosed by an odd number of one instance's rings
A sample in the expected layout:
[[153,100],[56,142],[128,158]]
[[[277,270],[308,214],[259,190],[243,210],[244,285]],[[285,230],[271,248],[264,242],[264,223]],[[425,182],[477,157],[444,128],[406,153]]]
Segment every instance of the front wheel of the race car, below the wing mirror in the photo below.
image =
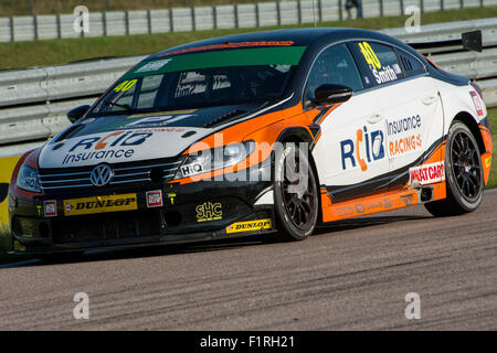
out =
[[318,220],[318,192],[315,171],[307,151],[297,143],[285,143],[276,153],[274,201],[282,235],[303,240],[313,234]]

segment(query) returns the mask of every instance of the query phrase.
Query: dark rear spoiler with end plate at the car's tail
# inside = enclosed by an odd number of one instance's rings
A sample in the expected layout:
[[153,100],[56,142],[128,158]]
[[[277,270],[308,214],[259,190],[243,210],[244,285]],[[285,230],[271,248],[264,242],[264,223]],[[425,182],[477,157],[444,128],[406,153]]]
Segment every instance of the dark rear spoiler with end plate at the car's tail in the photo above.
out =
[[461,40],[447,40],[437,42],[420,42],[408,43],[411,47],[421,52],[422,54],[429,54],[434,52],[457,51],[466,50],[474,52],[482,52],[482,31],[464,32]]

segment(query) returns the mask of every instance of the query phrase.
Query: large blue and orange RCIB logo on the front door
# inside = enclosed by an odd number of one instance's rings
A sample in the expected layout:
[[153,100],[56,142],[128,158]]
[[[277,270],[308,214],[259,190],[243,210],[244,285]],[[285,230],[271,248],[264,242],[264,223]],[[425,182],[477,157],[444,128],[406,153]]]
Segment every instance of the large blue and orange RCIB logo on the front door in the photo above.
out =
[[[347,169],[347,160],[349,165],[356,168],[359,163],[362,171],[368,170],[368,164],[384,158],[384,136],[383,131],[374,130],[368,132],[364,126],[356,131],[356,141],[346,139],[340,141],[341,168]],[[361,146],[366,148],[366,160],[361,157]]]

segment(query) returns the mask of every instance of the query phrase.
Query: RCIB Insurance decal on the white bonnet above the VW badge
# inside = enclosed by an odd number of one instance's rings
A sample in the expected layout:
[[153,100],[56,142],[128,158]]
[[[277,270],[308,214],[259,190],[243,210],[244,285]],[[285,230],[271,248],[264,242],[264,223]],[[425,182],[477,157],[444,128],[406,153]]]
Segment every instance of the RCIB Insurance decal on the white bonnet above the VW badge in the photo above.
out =
[[128,159],[135,153],[133,147],[142,145],[152,135],[154,132],[115,131],[104,137],[86,137],[71,147],[62,164]]

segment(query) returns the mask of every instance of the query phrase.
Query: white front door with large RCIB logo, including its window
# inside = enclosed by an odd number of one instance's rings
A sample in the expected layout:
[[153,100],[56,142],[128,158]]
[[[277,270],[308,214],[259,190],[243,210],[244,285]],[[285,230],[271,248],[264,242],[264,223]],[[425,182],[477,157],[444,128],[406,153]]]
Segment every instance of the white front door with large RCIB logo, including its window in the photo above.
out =
[[[319,114],[315,120],[321,136],[313,157],[321,189],[326,188],[334,202],[340,202],[378,193],[380,184],[388,188],[381,93],[368,89],[371,82],[361,77],[347,44],[330,46],[317,56],[305,87],[305,105],[311,101],[314,90],[321,84],[341,84],[353,89],[348,101]],[[329,107],[316,108],[327,111]]]

